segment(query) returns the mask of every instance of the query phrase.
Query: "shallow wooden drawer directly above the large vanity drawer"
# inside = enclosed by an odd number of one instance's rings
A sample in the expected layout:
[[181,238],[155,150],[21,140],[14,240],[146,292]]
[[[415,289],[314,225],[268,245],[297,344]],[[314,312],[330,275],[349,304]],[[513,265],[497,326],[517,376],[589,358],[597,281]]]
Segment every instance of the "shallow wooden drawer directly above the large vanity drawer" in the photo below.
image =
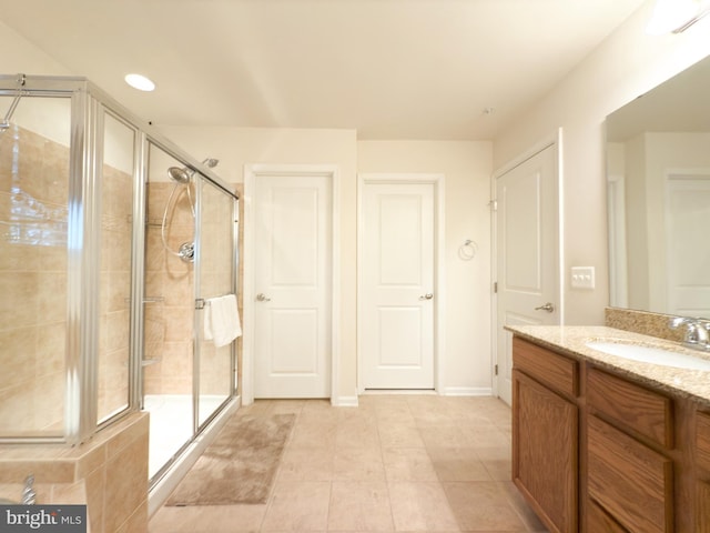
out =
[[673,447],[673,411],[669,398],[590,368],[587,403],[661,446]]

